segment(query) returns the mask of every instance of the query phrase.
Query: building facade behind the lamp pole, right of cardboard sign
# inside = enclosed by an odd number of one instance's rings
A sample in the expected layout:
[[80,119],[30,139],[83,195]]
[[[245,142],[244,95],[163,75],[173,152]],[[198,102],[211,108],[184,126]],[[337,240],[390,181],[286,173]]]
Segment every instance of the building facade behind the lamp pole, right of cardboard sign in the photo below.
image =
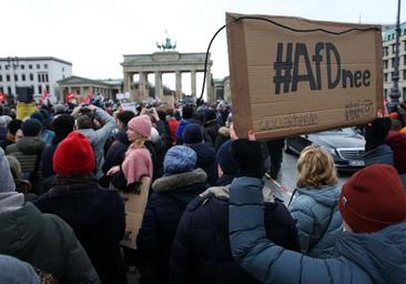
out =
[[[384,95],[389,98],[395,71],[396,27],[384,27],[383,60],[384,60]],[[399,92],[400,101],[406,101],[406,22],[400,24],[399,38]]]

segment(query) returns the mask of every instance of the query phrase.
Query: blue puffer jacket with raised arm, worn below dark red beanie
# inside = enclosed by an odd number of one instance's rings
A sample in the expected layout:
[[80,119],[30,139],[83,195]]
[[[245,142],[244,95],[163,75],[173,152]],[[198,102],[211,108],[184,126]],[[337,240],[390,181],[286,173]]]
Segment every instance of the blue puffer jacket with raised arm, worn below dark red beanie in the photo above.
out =
[[321,260],[284,250],[266,240],[263,182],[234,179],[230,243],[234,258],[262,283],[406,283],[406,222],[371,234],[345,232],[335,257]]

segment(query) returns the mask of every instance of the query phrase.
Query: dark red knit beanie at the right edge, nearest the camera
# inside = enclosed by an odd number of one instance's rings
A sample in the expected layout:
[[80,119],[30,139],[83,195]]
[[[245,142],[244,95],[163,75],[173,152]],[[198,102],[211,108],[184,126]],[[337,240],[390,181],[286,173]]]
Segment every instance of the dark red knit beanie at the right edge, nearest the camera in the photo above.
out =
[[339,212],[357,233],[372,233],[406,221],[406,193],[392,165],[373,164],[343,186]]

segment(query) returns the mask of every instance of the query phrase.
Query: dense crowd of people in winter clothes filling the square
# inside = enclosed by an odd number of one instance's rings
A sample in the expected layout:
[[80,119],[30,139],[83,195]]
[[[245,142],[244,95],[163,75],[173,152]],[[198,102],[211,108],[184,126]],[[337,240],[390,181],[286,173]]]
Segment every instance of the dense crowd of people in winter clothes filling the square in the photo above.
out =
[[343,187],[307,146],[284,204],[284,140],[238,139],[230,105],[0,105],[0,283],[406,283],[405,126],[406,104],[363,125]]

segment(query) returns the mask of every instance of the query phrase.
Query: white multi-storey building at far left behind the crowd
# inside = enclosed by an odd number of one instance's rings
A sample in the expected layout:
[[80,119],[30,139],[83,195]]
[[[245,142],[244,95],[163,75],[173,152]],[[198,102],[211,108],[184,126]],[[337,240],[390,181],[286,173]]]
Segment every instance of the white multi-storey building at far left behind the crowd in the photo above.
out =
[[72,75],[72,63],[53,57],[0,58],[0,92],[16,98],[17,88],[32,88],[39,98],[47,90],[60,95],[58,81]]

